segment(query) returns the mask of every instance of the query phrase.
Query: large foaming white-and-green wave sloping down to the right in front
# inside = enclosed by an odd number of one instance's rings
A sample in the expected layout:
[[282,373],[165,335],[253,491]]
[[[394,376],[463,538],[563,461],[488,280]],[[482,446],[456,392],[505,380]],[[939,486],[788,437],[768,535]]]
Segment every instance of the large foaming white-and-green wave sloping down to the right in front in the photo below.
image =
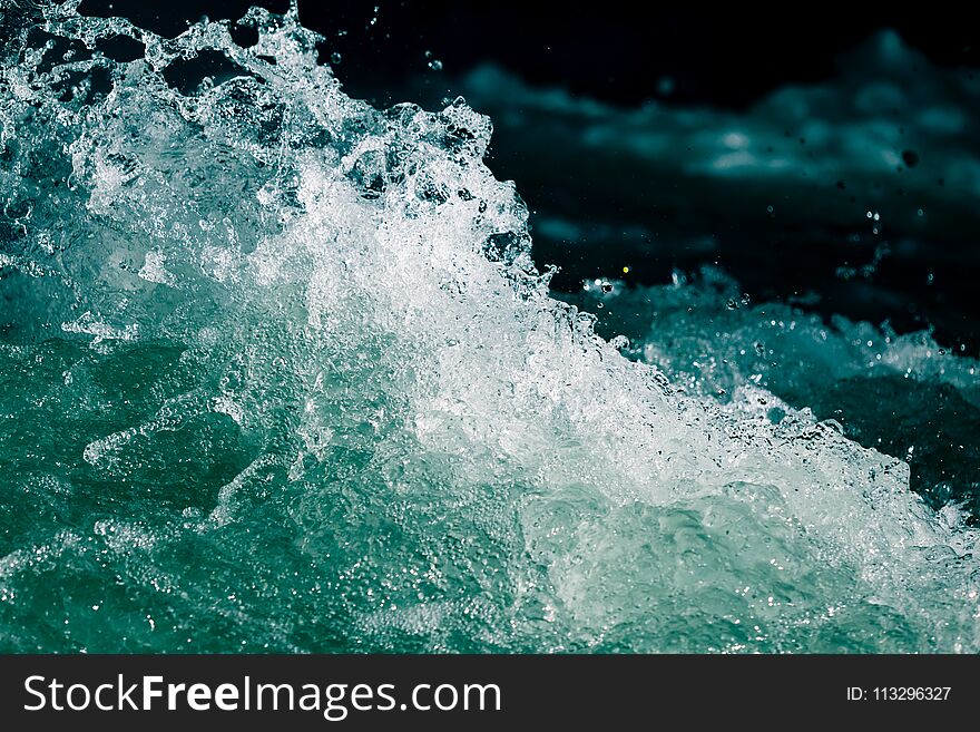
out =
[[[29,211],[3,242],[19,303],[3,358],[85,345],[46,387],[88,430],[60,478],[156,497],[67,533],[40,523],[4,559],[4,593],[59,562],[101,583],[96,556],[136,595],[161,578],[183,593],[135,611],[165,603],[174,638],[253,574],[293,597],[237,605],[238,622],[287,650],[320,647],[300,629],[315,622],[367,648],[978,650],[957,510],[925,508],[902,460],[833,424],[790,408],[773,423],[759,387],[718,403],[598,338],[548,295],[527,212],[482,162],[490,120],[462,100],[350,99],[292,16],[254,13],[243,49],[220,23],[168,41],[47,13],[81,46],[125,33],[147,52],[3,70],[0,186]],[[204,49],[241,75],[179,95],[163,69]],[[58,98],[59,74],[92,67],[107,94]],[[145,362],[178,343],[178,375],[130,384],[139,409],[109,427],[99,369],[133,343]],[[193,465],[226,442],[248,455],[232,480],[157,492],[168,452]],[[192,576],[180,547],[243,584]]]

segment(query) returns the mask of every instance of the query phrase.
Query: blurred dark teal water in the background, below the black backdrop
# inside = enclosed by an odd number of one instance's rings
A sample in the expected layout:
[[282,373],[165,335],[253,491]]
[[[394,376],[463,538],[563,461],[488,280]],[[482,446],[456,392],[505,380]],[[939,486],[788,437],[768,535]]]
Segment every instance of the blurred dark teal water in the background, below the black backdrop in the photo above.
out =
[[888,29],[836,66],[736,109],[621,107],[492,65],[451,81],[493,119],[491,167],[520,182],[558,290],[715,263],[758,302],[805,295],[977,357],[980,77]]

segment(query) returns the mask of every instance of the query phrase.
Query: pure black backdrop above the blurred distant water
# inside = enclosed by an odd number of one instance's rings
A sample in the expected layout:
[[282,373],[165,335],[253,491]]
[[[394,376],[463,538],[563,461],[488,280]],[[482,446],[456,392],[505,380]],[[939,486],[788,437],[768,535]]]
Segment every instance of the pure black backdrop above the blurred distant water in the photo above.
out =
[[[126,16],[174,36],[200,16],[237,19],[253,4],[288,7],[283,0],[85,0],[81,10]],[[625,106],[663,98],[659,81],[669,77],[668,101],[739,108],[778,86],[834,76],[835,58],[881,28],[899,31],[935,64],[976,67],[978,33],[961,7],[300,0],[300,17],[326,37],[324,60],[341,53],[339,76],[349,90],[380,95],[381,103],[403,100],[385,99],[384,90],[411,88],[429,51],[450,71],[493,61],[532,84]]]

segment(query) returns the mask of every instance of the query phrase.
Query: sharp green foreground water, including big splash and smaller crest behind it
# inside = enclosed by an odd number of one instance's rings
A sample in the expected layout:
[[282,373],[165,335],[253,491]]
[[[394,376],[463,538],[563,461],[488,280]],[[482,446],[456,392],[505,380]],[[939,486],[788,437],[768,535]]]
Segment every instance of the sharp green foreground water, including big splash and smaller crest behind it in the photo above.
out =
[[490,118],[293,12],[0,7],[0,650],[980,647],[968,355],[552,296]]

